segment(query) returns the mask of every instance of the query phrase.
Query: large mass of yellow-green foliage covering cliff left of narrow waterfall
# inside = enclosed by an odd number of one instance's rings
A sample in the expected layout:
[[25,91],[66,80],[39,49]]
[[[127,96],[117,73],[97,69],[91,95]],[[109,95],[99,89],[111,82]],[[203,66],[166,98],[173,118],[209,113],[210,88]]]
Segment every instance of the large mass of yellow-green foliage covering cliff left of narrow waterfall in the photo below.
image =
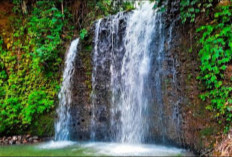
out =
[[36,1],[30,14],[13,19],[12,44],[0,38],[0,133],[25,130],[54,108],[62,44],[72,30],[66,27],[70,14],[57,3]]

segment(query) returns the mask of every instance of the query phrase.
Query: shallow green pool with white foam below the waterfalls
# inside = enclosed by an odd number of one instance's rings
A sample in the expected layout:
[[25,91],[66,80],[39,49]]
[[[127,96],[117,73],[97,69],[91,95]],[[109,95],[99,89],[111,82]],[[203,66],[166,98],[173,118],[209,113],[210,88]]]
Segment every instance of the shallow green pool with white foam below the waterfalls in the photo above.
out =
[[148,144],[54,142],[1,146],[0,156],[185,156],[183,149]]

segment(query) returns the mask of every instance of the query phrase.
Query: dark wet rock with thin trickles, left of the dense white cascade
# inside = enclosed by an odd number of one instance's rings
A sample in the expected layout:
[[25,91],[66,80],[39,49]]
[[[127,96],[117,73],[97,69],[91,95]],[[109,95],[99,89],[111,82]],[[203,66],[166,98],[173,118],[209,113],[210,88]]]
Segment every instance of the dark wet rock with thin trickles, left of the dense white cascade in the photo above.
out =
[[[92,74],[92,122],[91,138],[110,140],[115,130],[111,128],[112,106],[112,63],[120,69],[125,53],[123,38],[126,28],[126,15],[119,13],[99,20],[95,25],[93,74]],[[112,59],[113,58],[113,59]],[[120,62],[119,62],[120,61]]]

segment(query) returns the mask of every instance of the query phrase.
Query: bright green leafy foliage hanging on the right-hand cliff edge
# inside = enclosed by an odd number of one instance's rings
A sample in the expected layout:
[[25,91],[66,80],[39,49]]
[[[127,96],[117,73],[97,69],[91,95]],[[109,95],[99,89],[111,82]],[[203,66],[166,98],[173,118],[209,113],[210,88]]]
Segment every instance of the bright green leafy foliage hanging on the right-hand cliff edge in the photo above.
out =
[[214,17],[213,24],[197,30],[202,33],[198,78],[206,88],[200,97],[203,101],[210,101],[207,109],[217,112],[215,116],[220,123],[228,122],[228,129],[232,122],[232,85],[231,80],[226,81],[225,70],[232,60],[232,6],[220,7]]

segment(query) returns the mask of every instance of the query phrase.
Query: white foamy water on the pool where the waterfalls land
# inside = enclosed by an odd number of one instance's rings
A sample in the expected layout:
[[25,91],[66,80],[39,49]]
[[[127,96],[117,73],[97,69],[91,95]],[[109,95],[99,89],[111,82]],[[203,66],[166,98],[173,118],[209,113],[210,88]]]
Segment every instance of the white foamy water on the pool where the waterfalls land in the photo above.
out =
[[107,142],[77,143],[72,141],[50,141],[36,146],[39,150],[65,149],[75,152],[83,150],[86,156],[179,156],[187,155],[183,149],[153,144],[122,144]]

